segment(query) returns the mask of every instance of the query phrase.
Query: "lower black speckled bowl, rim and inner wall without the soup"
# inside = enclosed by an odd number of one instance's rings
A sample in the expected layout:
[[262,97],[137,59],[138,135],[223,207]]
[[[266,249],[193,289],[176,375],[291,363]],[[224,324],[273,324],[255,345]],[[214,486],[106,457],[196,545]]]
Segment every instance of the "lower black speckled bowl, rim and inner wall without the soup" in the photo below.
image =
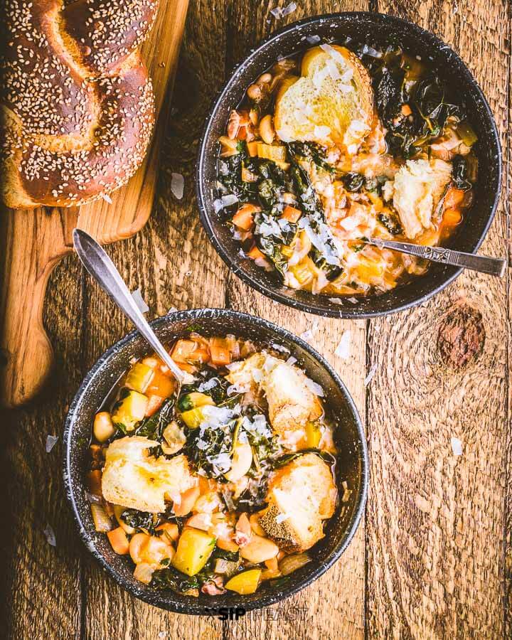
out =
[[[255,594],[220,597],[201,595],[198,598],[171,591],[155,591],[137,582],[131,562],[114,553],[103,533],[96,533],[90,504],[85,496],[87,449],[92,420],[112,385],[129,366],[130,358],[140,358],[150,350],[136,332],[112,346],[87,374],[70,407],[64,432],[64,481],[80,536],[100,565],[124,589],[156,607],[178,613],[205,614],[206,607],[244,607],[246,610],[266,607],[296,593],[316,580],[338,560],[356,531],[363,513],[368,488],[368,452],[366,439],[353,400],[336,372],[308,344],[289,331],[265,320],[228,309],[195,309],[164,316],[151,323],[163,342],[186,336],[188,327],[206,335],[226,331],[264,343],[279,343],[289,349],[306,373],[326,392],[329,410],[338,421],[336,441],[340,450],[337,464],[338,486],[348,481],[352,490],[345,503],[339,503],[336,513],[326,525],[326,536],[312,550],[314,560],[290,576],[280,588],[262,585]],[[201,329],[199,329],[201,327]],[[341,494],[343,490],[341,490]]]

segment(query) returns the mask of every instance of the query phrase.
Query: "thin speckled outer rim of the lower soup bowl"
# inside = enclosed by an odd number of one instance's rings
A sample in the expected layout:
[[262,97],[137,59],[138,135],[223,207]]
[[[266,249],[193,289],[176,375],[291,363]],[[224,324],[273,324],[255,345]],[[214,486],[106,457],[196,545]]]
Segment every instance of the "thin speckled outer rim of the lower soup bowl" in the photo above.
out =
[[[200,315],[198,315],[200,312]],[[261,602],[259,600],[255,600],[253,602],[245,603],[243,600],[237,605],[243,607],[245,611],[251,611],[253,609],[261,609],[262,607],[267,607],[270,604],[275,604],[277,602],[281,602],[284,599],[292,596],[293,594],[301,591],[305,587],[311,585],[311,582],[314,582],[317,578],[323,575],[326,570],[328,570],[335,562],[340,558],[342,553],[346,550],[348,545],[351,543],[353,536],[356,533],[356,530],[361,523],[361,518],[363,517],[364,508],[366,506],[366,499],[368,497],[368,481],[369,481],[369,458],[368,458],[368,444],[366,442],[366,433],[363,426],[363,422],[353,401],[351,394],[348,392],[346,385],[341,380],[336,370],[326,361],[324,356],[321,355],[318,351],[316,351],[309,343],[296,336],[291,331],[284,329],[283,327],[274,324],[271,321],[262,319],[258,316],[252,316],[250,314],[246,314],[242,311],[235,311],[234,309],[215,309],[215,308],[206,308],[206,309],[188,309],[186,311],[175,311],[171,314],[166,314],[165,316],[160,316],[159,318],[154,319],[149,324],[153,329],[159,329],[160,326],[166,324],[174,324],[177,321],[189,320],[189,321],[202,321],[208,319],[218,319],[219,317],[225,317],[227,319],[236,318],[242,322],[247,322],[252,324],[255,327],[262,327],[265,329],[270,329],[273,331],[276,336],[280,338],[286,338],[293,343],[296,343],[297,346],[307,351],[312,358],[321,366],[326,369],[327,373],[331,375],[331,378],[334,380],[334,383],[338,386],[346,400],[346,406],[348,410],[351,412],[353,416],[353,420],[356,423],[356,430],[358,435],[358,445],[361,449],[361,489],[358,493],[358,498],[356,504],[354,506],[353,514],[351,517],[350,526],[346,529],[346,534],[343,539],[343,542],[337,546],[336,550],[331,554],[326,562],[322,562],[317,565],[314,570],[311,571],[302,582],[289,585],[284,587],[282,592],[276,597],[276,592],[271,592],[265,594],[262,593]],[[97,372],[107,363],[110,358],[112,358],[119,348],[123,348],[127,346],[130,342],[134,341],[139,337],[140,334],[138,331],[131,331],[127,336],[121,338],[119,341],[115,342],[110,346],[110,348],[102,353],[102,356],[97,359],[95,364],[90,368],[87,375],[85,375],[80,388],[78,389],[73,401],[70,404],[70,408],[68,410],[68,414],[65,418],[65,427],[63,432],[63,479],[65,486],[65,495],[68,503],[70,504],[71,511],[73,512],[73,518],[75,523],[78,526],[78,533],[83,543],[87,547],[87,550],[94,556],[95,560],[100,563],[104,570],[120,585],[124,590],[127,590],[134,597],[141,599],[148,604],[153,604],[160,609],[165,609],[167,611],[172,611],[175,613],[189,614],[189,615],[205,615],[206,614],[206,605],[198,602],[160,602],[159,591],[154,590],[137,590],[137,587],[133,585],[132,582],[126,580],[122,575],[110,565],[109,562],[105,559],[105,557],[100,553],[99,550],[95,547],[94,540],[92,535],[87,532],[84,523],[82,522],[82,518],[80,517],[80,509],[78,508],[74,491],[75,488],[80,484],[83,484],[83,479],[78,479],[75,471],[72,470],[72,466],[70,464],[70,453],[71,453],[71,438],[73,435],[73,428],[75,426],[75,422],[77,420],[77,412],[80,404],[83,400],[85,393],[90,388],[93,380],[97,375]],[[237,596],[233,594],[232,599]],[[241,596],[243,597],[243,596]],[[196,600],[191,598],[192,601]],[[211,614],[211,613],[210,613]]]

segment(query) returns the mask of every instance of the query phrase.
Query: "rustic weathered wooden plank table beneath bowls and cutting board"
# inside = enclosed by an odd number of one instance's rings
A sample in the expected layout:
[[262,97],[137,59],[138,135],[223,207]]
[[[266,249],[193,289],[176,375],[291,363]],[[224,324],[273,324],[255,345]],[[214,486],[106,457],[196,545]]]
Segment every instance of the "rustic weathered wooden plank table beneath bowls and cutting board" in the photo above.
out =
[[[366,519],[341,560],[314,585],[238,622],[166,613],[117,587],[78,539],[63,495],[60,440],[45,452],[47,434],[62,434],[82,377],[131,329],[70,257],[55,269],[46,297],[46,326],[58,356],[53,383],[30,410],[1,416],[2,636],[511,637],[507,280],[464,274],[412,311],[374,321],[319,319],[272,303],[228,272],[203,233],[193,191],[196,147],[210,100],[252,45],[284,21],[329,11],[388,11],[450,43],[491,103],[506,170],[501,208],[483,251],[506,255],[511,4],[297,0],[297,10],[280,21],[270,14],[276,5],[275,0],[191,0],[159,198],[146,228],[109,252],[132,289],[142,288],[151,316],[172,306],[230,306],[297,334],[313,328],[312,343],[341,373],[366,419],[371,463]],[[185,176],[181,201],[171,193],[171,172]],[[343,331],[351,332],[348,360],[334,356]],[[452,344],[448,356],[439,339]],[[365,387],[375,363],[375,376]],[[462,442],[459,457],[452,437]],[[43,535],[47,524],[55,530],[55,548]]]

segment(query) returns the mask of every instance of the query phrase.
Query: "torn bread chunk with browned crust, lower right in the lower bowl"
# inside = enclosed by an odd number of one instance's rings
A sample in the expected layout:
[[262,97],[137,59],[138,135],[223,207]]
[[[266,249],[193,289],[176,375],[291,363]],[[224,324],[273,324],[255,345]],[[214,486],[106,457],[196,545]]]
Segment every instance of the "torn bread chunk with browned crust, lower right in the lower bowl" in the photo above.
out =
[[260,525],[279,547],[305,551],[324,537],[323,522],[336,506],[336,486],[326,464],[315,454],[289,462],[270,481],[268,506]]

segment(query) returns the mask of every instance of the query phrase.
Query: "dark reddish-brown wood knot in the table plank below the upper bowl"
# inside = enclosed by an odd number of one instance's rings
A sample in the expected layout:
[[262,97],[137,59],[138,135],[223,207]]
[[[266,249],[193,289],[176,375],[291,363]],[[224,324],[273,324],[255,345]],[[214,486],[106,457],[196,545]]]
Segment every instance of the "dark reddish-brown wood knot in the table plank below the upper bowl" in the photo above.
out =
[[462,369],[484,350],[486,332],[480,311],[460,303],[444,316],[437,334],[437,348],[445,364]]

